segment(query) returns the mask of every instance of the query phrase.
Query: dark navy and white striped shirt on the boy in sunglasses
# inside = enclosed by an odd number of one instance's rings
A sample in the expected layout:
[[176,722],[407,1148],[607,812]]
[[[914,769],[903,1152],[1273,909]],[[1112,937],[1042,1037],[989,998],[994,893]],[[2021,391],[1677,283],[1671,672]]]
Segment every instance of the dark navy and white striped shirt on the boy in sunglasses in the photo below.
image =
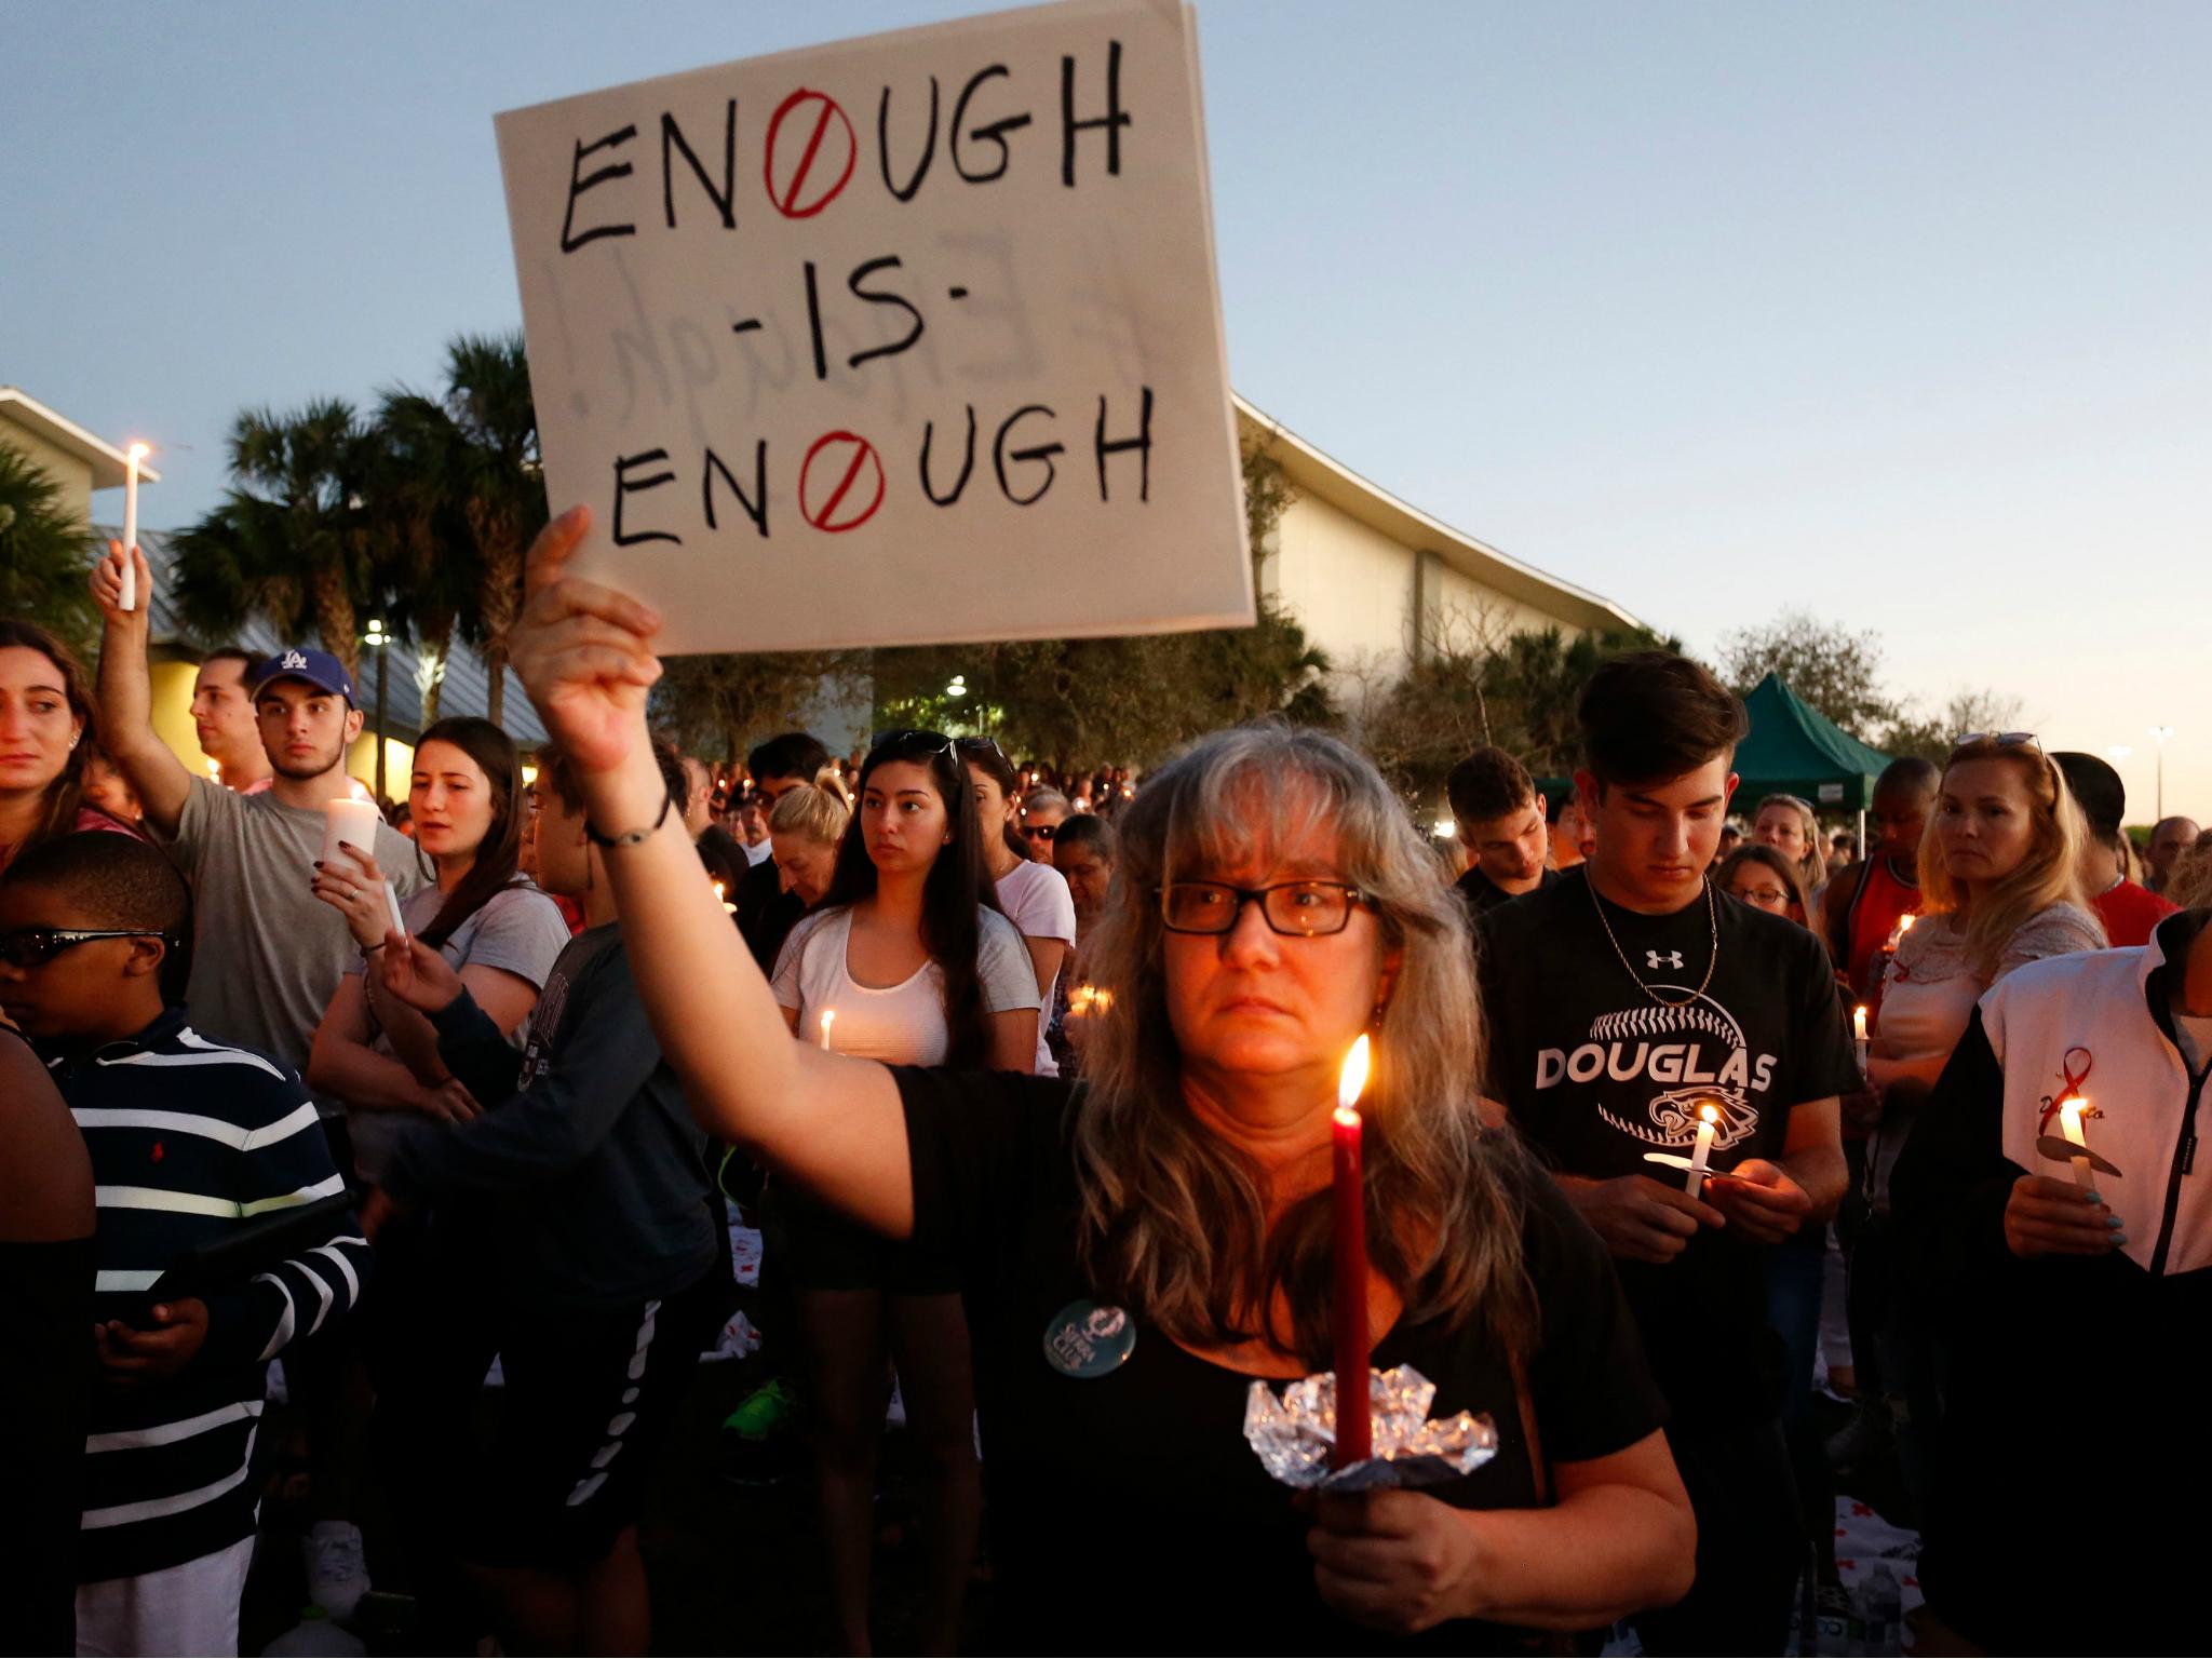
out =
[[[226,1228],[345,1190],[299,1077],[201,1037],[181,1009],[93,1053],[42,1053],[93,1155],[100,1318],[131,1318],[164,1267]],[[369,1248],[347,1223],[210,1294],[206,1343],[177,1376],[131,1394],[95,1387],[80,1584],[177,1566],[252,1535],[248,1473],[268,1360],[341,1318],[367,1272]]]

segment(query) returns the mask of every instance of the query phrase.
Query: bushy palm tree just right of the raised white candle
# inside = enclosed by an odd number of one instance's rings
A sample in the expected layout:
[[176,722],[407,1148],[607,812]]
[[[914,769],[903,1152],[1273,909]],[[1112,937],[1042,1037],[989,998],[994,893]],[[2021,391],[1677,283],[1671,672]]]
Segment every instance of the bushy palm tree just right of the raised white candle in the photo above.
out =
[[177,602],[201,635],[263,615],[361,668],[361,606],[376,602],[361,484],[367,449],[352,405],[243,411],[230,429],[223,502],[177,538]]

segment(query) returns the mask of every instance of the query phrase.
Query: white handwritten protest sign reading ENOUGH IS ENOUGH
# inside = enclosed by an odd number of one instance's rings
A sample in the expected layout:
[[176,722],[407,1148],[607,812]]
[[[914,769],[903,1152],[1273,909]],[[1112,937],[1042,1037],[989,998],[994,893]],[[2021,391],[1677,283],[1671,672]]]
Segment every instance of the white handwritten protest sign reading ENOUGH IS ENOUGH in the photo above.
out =
[[546,489],[661,650],[1252,622],[1188,7],[874,35],[498,135]]

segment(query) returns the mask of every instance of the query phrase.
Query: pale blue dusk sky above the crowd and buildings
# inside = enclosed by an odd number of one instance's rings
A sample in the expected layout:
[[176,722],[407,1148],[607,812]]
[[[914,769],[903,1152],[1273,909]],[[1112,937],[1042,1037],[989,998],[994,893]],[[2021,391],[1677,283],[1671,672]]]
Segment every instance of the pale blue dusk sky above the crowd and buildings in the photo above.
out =
[[[7,9],[0,383],[246,405],[520,323],[495,111],[925,0]],[[1201,0],[1237,389],[1712,653],[1783,606],[2212,818],[2212,7]],[[119,515],[119,500],[95,507]]]

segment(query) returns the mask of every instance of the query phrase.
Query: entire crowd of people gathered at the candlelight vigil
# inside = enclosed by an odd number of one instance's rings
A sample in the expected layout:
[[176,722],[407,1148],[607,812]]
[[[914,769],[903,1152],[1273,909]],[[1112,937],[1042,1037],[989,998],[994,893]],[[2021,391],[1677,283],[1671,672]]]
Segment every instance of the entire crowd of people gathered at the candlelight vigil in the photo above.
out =
[[[438,721],[405,832],[338,810],[363,717],[321,650],[212,653],[212,765],[177,759],[135,549],[95,677],[0,622],[27,1648],[237,1650],[283,1360],[332,1621],[380,1506],[422,1650],[648,1650],[639,1522],[732,1214],[772,1367],[741,1413],[805,1447],[847,1652],[894,1378],[933,1652],[980,1553],[1009,1648],[1781,1652],[1869,1447],[1951,1639],[2185,1639],[2194,823],[2139,858],[2108,765],[1982,732],[1882,772],[1858,856],[1796,796],[1741,812],[1743,703],[1668,653],[1590,677],[1566,801],[1458,765],[1449,858],[1283,723],[1141,787],[933,730],[721,768],[650,732],[657,619],[564,573],[584,524],[515,639],[551,741]],[[1498,1451],[1312,1498],[1243,1418],[1334,1367],[1363,1033],[1374,1363]]]

